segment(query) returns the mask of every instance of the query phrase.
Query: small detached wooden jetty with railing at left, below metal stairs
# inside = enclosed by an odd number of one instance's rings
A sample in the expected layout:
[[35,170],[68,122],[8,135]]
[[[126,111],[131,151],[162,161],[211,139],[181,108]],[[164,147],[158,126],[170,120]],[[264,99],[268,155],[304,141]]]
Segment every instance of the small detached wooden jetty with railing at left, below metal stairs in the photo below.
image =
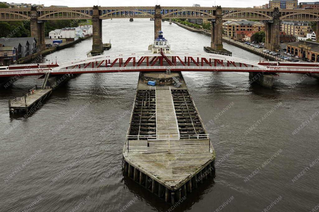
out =
[[9,111],[13,113],[27,113],[38,103],[43,102],[52,93],[51,87],[33,87],[27,94],[9,100]]

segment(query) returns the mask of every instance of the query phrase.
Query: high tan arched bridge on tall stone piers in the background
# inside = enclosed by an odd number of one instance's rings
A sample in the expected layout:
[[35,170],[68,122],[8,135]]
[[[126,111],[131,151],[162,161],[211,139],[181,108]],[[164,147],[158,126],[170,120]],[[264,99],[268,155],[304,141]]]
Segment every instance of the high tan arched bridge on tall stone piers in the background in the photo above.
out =
[[[119,18],[153,18],[154,36],[161,29],[161,19],[167,18],[200,18],[210,20],[212,23],[211,48],[221,50],[222,46],[222,22],[230,19],[256,19],[265,23],[266,41],[265,47],[270,50],[280,48],[279,31],[282,20],[319,20],[319,11],[304,9],[260,9],[260,8],[222,8],[217,7],[155,7],[131,6],[131,7],[43,7],[43,8],[4,8],[0,9],[0,21],[25,21],[31,22],[31,36],[35,37],[40,50],[45,49],[44,22],[57,19],[92,19],[93,45],[92,53],[103,51],[102,44],[102,20]],[[319,24],[315,33],[319,33]],[[317,36],[319,41],[319,36]]]

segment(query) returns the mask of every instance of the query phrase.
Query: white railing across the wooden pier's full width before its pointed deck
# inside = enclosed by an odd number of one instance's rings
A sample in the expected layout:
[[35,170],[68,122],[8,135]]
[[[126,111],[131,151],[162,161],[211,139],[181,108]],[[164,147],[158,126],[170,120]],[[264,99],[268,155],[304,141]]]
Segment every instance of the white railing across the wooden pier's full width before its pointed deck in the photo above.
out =
[[127,140],[201,140],[201,139],[209,139],[209,134],[195,134],[195,135],[127,135]]

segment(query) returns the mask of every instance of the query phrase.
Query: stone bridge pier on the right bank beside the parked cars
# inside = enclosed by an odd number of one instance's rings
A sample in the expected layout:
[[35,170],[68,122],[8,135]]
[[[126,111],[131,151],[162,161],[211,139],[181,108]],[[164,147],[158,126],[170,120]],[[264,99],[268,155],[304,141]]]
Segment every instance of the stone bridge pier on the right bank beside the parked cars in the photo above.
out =
[[265,24],[265,48],[271,51],[280,49],[280,20],[277,7],[274,10],[274,19],[264,20],[263,23]]

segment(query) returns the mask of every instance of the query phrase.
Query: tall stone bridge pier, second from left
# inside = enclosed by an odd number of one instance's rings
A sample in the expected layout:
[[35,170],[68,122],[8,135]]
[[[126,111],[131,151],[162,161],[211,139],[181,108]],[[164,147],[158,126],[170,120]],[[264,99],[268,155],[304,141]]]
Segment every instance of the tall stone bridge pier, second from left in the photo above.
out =
[[92,16],[92,52],[91,54],[100,54],[104,51],[103,42],[102,42],[102,20],[99,18],[99,7],[93,7],[93,16]]

